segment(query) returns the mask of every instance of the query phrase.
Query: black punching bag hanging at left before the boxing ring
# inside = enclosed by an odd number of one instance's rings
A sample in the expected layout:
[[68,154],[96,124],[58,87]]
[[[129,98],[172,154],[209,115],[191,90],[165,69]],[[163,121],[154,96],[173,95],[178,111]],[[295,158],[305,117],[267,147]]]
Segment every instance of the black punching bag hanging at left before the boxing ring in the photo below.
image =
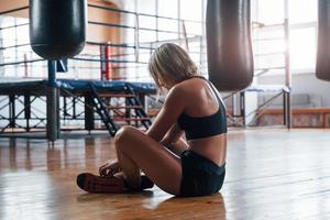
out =
[[30,41],[43,58],[77,55],[86,41],[86,0],[30,0]]

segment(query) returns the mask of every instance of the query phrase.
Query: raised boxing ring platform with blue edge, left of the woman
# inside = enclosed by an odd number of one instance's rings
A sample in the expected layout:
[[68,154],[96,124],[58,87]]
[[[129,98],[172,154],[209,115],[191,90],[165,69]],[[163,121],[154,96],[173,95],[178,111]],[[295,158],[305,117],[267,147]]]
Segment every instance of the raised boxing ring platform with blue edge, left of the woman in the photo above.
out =
[[[53,109],[52,116],[47,116],[43,112],[47,106],[46,97],[50,90],[47,80],[0,82],[0,133],[45,131],[48,118],[55,118],[53,120],[57,121],[57,127],[54,127],[57,131],[52,131],[56,132],[57,136],[62,124],[68,120],[84,121],[84,128],[80,129],[91,131],[102,129],[96,128],[96,120],[105,123],[105,120],[110,119],[114,133],[120,123],[134,123],[135,127],[144,128],[151,124],[145,113],[144,101],[146,96],[156,94],[154,84],[57,79],[56,88],[58,92],[54,98],[58,105]],[[100,100],[101,102],[97,102]],[[98,112],[98,105],[107,109],[108,119],[102,119]],[[7,113],[1,113],[6,108]],[[75,129],[77,128],[66,130]],[[110,132],[111,135],[114,133]]]

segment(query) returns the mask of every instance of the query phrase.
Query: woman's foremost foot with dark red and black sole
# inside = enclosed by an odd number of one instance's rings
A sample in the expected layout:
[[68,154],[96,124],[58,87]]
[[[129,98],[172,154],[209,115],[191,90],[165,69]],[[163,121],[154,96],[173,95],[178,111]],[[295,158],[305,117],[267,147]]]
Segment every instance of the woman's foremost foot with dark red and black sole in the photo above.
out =
[[77,185],[90,194],[120,194],[127,190],[122,179],[111,177],[100,177],[89,173],[77,176]]

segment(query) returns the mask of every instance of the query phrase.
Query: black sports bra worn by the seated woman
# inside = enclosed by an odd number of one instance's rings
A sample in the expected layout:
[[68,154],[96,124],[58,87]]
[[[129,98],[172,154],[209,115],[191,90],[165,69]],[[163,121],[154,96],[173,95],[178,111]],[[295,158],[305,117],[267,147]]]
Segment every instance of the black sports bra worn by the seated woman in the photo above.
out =
[[197,77],[208,81],[210,88],[217,96],[219,109],[216,113],[207,117],[190,117],[183,112],[177,119],[177,123],[180,129],[185,130],[187,140],[202,139],[227,133],[226,108],[221,98],[218,96],[213,85],[209,80],[200,76]]

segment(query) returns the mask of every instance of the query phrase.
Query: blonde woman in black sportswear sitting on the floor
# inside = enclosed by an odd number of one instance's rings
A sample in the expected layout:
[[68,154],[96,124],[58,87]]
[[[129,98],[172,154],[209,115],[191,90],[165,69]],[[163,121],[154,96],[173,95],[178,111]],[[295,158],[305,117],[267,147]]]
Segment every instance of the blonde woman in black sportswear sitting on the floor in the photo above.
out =
[[121,128],[114,138],[118,161],[102,165],[100,176],[78,175],[78,186],[111,194],[146,189],[155,183],[176,196],[218,193],[227,151],[226,109],[219,94],[176,44],[156,48],[148,70],[157,87],[168,90],[153,124],[145,133]]

